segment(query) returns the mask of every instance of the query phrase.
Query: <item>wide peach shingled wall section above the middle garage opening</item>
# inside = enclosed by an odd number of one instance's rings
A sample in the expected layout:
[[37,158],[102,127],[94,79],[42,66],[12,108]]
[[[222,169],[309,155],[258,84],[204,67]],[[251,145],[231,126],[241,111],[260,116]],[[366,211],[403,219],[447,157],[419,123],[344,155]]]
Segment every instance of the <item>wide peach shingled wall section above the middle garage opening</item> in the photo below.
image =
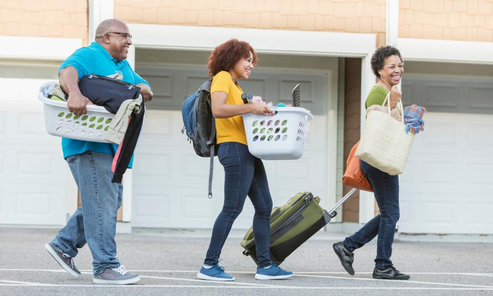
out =
[[128,23],[375,33],[385,44],[386,0],[115,0]]

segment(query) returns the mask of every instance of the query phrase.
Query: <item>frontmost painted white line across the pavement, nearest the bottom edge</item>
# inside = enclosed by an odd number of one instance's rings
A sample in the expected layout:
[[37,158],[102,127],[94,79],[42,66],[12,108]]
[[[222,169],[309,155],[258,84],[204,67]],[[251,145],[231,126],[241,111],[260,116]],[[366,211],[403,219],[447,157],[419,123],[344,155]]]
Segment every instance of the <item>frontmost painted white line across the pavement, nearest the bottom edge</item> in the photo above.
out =
[[[0,286],[37,287],[36,285],[0,284]],[[40,285],[46,286],[46,285]],[[426,287],[256,287],[256,286],[192,286],[192,285],[51,285],[56,287],[99,287],[99,288],[221,288],[221,289],[291,289],[291,290],[441,290],[441,291],[493,291],[485,288],[426,288]]]

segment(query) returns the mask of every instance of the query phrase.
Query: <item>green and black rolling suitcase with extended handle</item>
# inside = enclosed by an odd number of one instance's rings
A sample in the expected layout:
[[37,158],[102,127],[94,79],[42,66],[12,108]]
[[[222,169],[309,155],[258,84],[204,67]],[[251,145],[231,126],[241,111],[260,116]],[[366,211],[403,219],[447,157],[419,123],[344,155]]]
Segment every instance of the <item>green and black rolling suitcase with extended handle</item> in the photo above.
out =
[[[335,211],[356,191],[352,189],[328,212],[318,204],[320,197],[311,192],[297,193],[281,207],[274,207],[271,213],[270,255],[271,260],[281,264],[291,253],[317,233],[330,219],[337,215]],[[246,231],[240,245],[245,249],[243,254],[250,256],[255,263],[257,253],[253,229]]]

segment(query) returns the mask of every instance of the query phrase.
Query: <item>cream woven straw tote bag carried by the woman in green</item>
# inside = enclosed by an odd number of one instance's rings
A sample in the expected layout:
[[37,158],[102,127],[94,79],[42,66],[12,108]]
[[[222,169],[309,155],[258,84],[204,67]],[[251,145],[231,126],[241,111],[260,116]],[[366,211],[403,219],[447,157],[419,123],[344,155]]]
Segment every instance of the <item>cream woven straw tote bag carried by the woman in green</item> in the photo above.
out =
[[[404,171],[409,151],[413,145],[414,134],[406,133],[404,114],[402,121],[390,116],[390,92],[385,98],[388,112],[370,111],[356,150],[356,157],[389,175],[399,175]],[[402,101],[397,102],[401,110]]]

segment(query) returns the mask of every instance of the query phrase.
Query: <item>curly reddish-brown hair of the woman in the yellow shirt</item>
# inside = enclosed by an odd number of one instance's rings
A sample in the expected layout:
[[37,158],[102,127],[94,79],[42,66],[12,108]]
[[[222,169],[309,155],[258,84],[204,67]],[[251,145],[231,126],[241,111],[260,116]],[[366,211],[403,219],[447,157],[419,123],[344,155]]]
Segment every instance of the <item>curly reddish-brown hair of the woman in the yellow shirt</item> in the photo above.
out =
[[250,43],[240,41],[238,39],[228,40],[212,50],[209,56],[209,77],[221,71],[229,71],[233,69],[236,63],[241,59],[246,59],[253,55],[252,64],[256,65],[258,61],[257,54]]

